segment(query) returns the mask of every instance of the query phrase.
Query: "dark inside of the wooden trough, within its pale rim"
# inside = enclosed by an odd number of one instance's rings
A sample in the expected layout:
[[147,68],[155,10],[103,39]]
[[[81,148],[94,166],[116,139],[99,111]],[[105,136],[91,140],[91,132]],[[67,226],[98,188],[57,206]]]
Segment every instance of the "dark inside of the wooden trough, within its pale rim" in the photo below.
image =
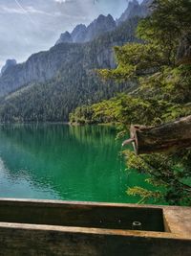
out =
[[0,200],[0,221],[124,230],[140,221],[145,231],[163,231],[161,209],[137,206]]

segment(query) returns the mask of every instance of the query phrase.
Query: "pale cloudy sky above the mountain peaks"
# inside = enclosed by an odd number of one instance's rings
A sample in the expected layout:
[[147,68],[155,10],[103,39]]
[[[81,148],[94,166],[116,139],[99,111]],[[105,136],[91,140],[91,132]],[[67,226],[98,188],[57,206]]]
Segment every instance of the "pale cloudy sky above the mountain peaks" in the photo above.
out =
[[[119,17],[129,0],[0,0],[0,69],[50,49],[59,35],[99,14]],[[141,0],[139,0],[140,2]]]

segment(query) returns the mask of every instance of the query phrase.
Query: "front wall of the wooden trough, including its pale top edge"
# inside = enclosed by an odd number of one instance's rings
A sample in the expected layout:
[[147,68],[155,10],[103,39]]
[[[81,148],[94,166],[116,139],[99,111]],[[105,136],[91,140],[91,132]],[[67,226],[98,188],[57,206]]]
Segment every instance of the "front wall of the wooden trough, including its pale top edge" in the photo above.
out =
[[1,256],[190,256],[171,234],[0,223]]

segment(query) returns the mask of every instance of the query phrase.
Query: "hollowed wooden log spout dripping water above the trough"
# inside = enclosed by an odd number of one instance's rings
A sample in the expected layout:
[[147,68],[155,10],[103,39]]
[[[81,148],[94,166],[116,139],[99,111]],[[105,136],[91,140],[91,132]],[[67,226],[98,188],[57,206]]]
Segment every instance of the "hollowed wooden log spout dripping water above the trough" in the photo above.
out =
[[191,116],[159,127],[131,126],[130,133],[123,146],[133,143],[137,154],[191,148]]

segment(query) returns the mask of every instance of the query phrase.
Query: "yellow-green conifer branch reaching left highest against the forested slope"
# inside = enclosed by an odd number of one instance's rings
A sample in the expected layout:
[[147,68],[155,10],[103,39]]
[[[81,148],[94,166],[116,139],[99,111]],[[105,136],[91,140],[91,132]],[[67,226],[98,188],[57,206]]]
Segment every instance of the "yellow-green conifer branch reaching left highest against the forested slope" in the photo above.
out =
[[[99,70],[101,77],[115,79],[117,81],[127,81],[137,79],[138,75],[154,71],[162,65],[168,63],[168,59],[163,55],[159,46],[154,44],[129,43],[122,47],[115,47],[117,58],[117,69]],[[141,59],[141,61],[140,61]]]

